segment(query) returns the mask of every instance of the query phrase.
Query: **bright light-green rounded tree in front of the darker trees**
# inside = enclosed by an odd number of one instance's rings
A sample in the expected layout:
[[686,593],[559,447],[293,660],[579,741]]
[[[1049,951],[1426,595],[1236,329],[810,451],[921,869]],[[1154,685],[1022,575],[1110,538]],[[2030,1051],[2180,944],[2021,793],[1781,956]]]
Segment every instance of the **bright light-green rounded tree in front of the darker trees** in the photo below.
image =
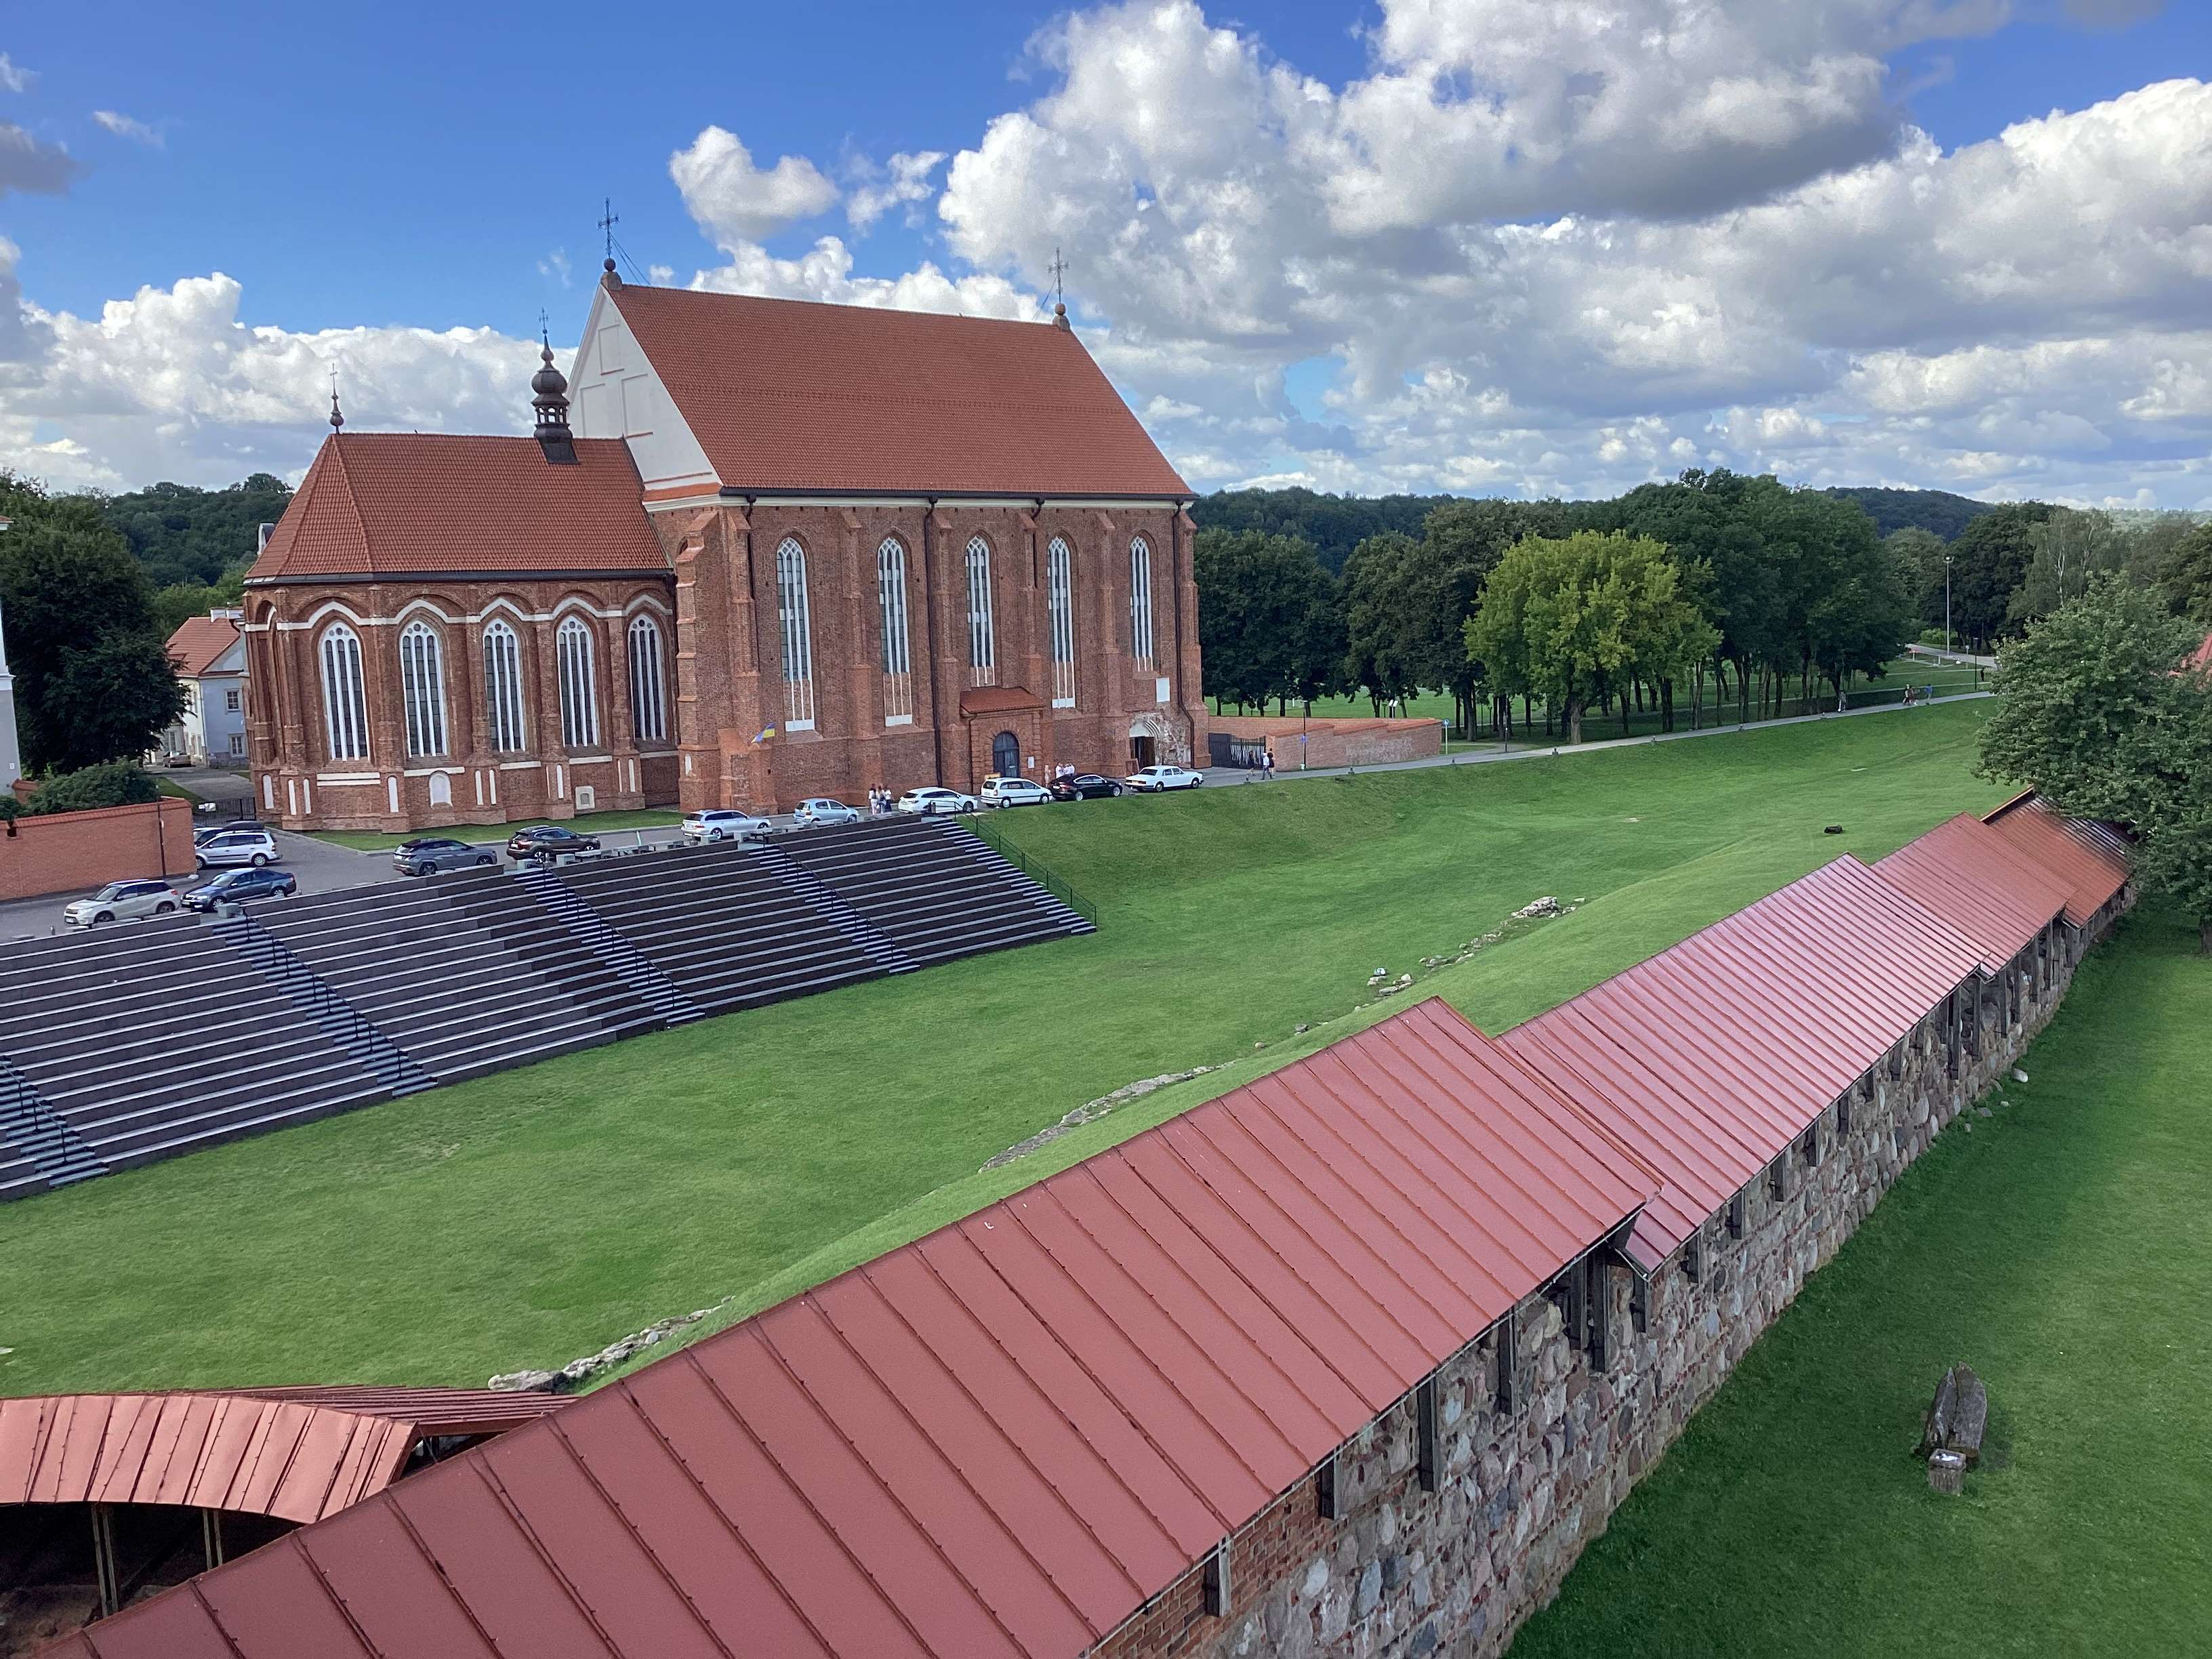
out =
[[1531,535],[1491,571],[1467,653],[1506,695],[1533,692],[1566,717],[1571,743],[1601,697],[1637,675],[1679,672],[1712,650],[1712,628],[1681,591],[1666,546],[1624,531]]

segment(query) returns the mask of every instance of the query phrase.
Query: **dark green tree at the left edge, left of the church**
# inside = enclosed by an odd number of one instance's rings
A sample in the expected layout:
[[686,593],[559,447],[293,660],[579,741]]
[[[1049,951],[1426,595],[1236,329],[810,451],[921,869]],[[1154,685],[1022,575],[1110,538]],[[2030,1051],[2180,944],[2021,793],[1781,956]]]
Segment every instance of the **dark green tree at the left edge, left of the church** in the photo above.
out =
[[31,772],[144,754],[184,712],[146,573],[84,495],[0,480],[0,619]]

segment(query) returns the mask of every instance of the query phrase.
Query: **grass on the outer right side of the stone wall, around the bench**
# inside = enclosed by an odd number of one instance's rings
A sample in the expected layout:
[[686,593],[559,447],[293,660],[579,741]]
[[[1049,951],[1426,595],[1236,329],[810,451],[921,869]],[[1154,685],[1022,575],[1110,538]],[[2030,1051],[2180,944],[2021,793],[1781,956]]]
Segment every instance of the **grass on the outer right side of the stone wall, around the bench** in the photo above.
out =
[[[2130,918],[1522,1632],[1546,1655],[2203,1652],[2212,964]],[[1964,1498],[1907,1455],[1989,1383]]]

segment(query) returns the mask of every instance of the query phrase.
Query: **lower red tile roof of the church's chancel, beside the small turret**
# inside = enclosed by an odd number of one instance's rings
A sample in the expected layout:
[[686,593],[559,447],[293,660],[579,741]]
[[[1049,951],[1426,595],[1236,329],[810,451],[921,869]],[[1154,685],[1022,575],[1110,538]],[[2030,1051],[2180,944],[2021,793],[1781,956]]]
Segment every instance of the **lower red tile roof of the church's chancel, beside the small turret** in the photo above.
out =
[[246,580],[668,568],[628,445],[577,438],[575,460],[535,438],[338,434]]

